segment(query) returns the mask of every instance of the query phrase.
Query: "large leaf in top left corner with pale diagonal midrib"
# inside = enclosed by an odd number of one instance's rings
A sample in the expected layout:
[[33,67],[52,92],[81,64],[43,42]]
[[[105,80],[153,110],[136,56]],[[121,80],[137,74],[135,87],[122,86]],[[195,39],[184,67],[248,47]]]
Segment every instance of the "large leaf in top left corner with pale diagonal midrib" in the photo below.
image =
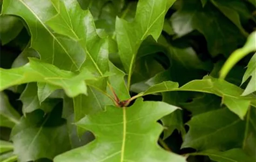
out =
[[17,15],[25,20],[32,37],[31,46],[40,53],[41,60],[64,70],[79,70],[86,56],[81,45],[56,34],[46,24],[57,14],[55,7],[50,0],[5,0],[2,14]]

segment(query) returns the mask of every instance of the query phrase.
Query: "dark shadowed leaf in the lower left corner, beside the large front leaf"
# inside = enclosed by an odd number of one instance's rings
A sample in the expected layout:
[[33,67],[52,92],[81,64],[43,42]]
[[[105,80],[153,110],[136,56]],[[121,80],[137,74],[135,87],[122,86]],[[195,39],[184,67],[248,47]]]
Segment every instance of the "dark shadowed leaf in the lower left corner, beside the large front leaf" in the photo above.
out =
[[11,139],[20,162],[53,159],[70,149],[67,125],[61,119],[60,111],[60,106],[47,115],[36,110],[27,114],[26,118],[21,118],[20,123],[13,128]]

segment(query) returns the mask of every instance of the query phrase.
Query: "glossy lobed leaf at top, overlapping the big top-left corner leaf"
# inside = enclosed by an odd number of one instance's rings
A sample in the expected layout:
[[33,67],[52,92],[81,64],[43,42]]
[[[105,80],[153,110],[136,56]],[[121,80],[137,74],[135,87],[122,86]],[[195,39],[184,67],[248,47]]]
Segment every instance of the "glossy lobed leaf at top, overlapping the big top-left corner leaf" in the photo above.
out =
[[[76,0],[54,1],[58,14],[47,21],[54,31],[79,41],[87,58],[82,67],[103,76],[108,71],[108,39],[97,35],[91,13],[81,9]],[[106,79],[91,83],[105,91]]]

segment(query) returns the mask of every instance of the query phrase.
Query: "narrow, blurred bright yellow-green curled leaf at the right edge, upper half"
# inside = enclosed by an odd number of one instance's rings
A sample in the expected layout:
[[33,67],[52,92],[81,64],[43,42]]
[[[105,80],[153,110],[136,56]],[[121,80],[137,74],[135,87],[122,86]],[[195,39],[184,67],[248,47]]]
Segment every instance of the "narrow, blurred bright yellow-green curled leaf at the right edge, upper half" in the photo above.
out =
[[246,43],[242,48],[235,50],[228,60],[223,65],[220,71],[220,78],[225,78],[229,73],[230,69],[240,61],[244,56],[248,55],[250,52],[256,51],[256,31],[252,32],[247,38]]

